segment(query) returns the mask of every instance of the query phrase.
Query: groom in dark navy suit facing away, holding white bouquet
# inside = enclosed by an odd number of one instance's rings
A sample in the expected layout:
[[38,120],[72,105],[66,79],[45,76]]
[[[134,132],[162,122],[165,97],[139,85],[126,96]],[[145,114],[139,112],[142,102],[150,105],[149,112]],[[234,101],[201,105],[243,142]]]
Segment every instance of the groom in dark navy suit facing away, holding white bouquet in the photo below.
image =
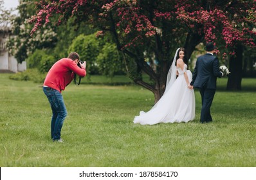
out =
[[196,67],[192,76],[192,88],[199,88],[202,100],[201,123],[212,122],[210,107],[216,91],[217,77],[221,78],[223,73],[219,71],[219,60],[214,56],[216,46],[208,42],[205,46],[206,54],[197,58]]

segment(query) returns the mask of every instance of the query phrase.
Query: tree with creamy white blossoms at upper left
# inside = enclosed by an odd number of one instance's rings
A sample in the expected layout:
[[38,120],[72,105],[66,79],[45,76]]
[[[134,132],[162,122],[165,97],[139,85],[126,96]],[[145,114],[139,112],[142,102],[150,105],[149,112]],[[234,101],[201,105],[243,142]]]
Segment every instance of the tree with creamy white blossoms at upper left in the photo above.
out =
[[32,24],[28,23],[28,18],[35,14],[35,2],[38,0],[20,0],[19,15],[10,18],[12,26],[12,36],[6,44],[9,52],[14,55],[18,62],[23,62],[32,54],[35,49],[53,48],[56,42],[56,35],[51,24],[42,26],[40,31],[30,37]]

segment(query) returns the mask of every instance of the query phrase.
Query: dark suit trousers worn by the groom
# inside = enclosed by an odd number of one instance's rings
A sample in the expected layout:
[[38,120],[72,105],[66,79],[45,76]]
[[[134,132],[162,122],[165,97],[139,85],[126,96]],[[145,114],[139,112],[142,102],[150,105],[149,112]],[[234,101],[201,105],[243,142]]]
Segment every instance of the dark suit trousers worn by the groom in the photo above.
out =
[[214,95],[216,89],[207,89],[206,87],[199,88],[201,98],[202,98],[202,109],[201,109],[201,123],[212,122],[212,116],[210,113],[210,107],[212,105],[212,101],[214,100]]

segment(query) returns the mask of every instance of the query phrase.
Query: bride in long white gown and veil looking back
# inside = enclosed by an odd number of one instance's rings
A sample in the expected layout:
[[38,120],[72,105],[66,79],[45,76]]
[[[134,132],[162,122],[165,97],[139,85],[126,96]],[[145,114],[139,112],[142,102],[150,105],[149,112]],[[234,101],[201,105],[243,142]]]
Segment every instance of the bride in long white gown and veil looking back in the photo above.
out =
[[187,64],[183,61],[184,56],[185,49],[178,48],[167,75],[163,96],[147,113],[140,111],[140,115],[135,116],[134,123],[154,125],[156,123],[187,123],[194,120],[196,101],[194,90],[190,86],[192,73],[187,70]]

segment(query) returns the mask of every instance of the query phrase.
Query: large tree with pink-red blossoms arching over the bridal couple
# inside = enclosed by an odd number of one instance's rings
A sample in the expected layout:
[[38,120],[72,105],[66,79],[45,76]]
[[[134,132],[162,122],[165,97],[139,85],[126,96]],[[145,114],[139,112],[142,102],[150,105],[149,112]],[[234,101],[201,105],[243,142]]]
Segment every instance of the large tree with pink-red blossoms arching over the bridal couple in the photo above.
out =
[[[156,102],[165,90],[177,48],[183,46],[188,59],[200,42],[222,43],[231,51],[238,42],[255,46],[255,0],[41,0],[37,8],[30,20],[32,34],[69,17],[93,24],[99,34],[110,33],[130,77],[152,91]],[[143,80],[142,71],[153,84]]]

